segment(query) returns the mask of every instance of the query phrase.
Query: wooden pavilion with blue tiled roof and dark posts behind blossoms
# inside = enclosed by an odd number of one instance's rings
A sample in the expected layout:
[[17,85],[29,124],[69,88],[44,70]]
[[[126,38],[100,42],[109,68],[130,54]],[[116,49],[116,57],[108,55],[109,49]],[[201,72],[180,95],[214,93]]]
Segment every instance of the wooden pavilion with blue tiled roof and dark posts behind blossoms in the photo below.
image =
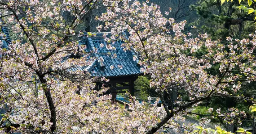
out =
[[[92,52],[96,60],[89,66],[72,67],[67,71],[86,71],[93,77],[105,77],[110,81],[106,85],[110,90],[106,93],[112,94],[112,100],[115,100],[117,93],[125,92],[127,89],[130,94],[134,95],[134,81],[141,75],[138,60],[133,60],[136,55],[131,50],[124,50],[121,40],[114,43],[108,43],[104,40],[103,35],[111,33],[92,33],[96,36],[88,37],[86,34],[79,40],[79,45],[85,45],[87,52]],[[125,34],[124,34],[125,35]],[[125,35],[126,36],[126,35]],[[93,52],[97,50],[96,52]],[[102,82],[97,82],[96,89],[102,87]],[[122,91],[120,91],[122,90]]]

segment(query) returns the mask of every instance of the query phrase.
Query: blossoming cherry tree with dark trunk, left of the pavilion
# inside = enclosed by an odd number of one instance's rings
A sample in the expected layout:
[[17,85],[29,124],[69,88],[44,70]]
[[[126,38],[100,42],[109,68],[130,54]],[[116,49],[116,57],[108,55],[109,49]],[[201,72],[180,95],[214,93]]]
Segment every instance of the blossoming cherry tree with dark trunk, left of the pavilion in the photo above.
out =
[[[0,1],[1,26],[13,35],[9,48],[1,49],[1,133],[144,133],[159,121],[161,107],[134,101],[128,112],[102,96],[107,88],[93,90],[96,78],[66,71],[94,61],[77,36],[83,35],[84,17],[106,2]],[[62,62],[71,53],[82,56]]]

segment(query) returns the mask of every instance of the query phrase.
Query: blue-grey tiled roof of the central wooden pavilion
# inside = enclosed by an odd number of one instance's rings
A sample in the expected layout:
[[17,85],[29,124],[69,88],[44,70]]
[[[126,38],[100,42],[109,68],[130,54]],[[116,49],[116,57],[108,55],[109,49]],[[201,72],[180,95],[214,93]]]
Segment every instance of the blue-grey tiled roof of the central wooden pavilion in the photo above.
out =
[[[107,43],[102,37],[104,33],[92,34],[96,34],[96,36],[87,37],[84,35],[79,41],[79,45],[86,45],[87,52],[97,50],[92,54],[97,59],[89,66],[72,67],[68,71],[81,70],[90,72],[92,76],[104,77],[141,74],[138,61],[133,61],[134,53],[129,50],[123,50],[124,48],[121,46],[124,43],[123,41],[117,40],[115,43]],[[107,49],[107,45],[115,47],[115,49]]]

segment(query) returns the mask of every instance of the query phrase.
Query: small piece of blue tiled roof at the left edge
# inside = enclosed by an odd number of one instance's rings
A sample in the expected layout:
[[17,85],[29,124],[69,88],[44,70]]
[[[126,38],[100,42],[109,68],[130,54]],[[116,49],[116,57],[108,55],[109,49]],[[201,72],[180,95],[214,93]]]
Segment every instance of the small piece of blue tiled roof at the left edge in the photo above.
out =
[[6,27],[1,27],[0,33],[4,33],[4,36],[0,35],[0,41],[2,42],[1,48],[8,48],[9,44],[11,43],[11,39],[9,36],[9,30]]

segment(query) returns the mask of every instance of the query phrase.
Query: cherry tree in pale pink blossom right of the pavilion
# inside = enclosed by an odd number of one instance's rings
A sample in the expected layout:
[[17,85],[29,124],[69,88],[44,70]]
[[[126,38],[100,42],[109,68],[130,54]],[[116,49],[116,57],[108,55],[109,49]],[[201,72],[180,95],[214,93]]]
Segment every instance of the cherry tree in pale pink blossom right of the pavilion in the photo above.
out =
[[[148,134],[166,123],[174,126],[171,118],[182,117],[194,105],[214,97],[255,101],[242,95],[247,85],[255,81],[255,34],[250,34],[252,39],[227,37],[222,41],[225,44],[212,41],[207,34],[190,38],[190,33],[182,33],[186,21],[176,23],[172,18],[164,18],[157,5],[138,1],[123,8],[112,4],[99,19],[107,21],[103,29],[112,27],[112,33],[129,32],[128,39],[121,38],[126,42],[124,46],[137,52],[141,70],[151,75],[150,86],[156,88],[163,102],[166,115]],[[219,70],[211,71],[216,65]],[[163,92],[173,90],[181,95],[185,92],[190,99],[185,101],[184,96],[178,96],[175,104],[166,105]],[[239,114],[244,116],[243,113]]]

